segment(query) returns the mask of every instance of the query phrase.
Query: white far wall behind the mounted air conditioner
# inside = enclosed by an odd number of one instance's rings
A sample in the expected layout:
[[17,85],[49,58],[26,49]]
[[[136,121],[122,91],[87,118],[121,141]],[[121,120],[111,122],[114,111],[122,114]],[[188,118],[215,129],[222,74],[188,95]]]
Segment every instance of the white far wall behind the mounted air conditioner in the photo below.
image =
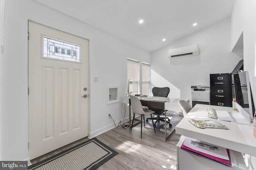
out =
[[[199,55],[168,58],[169,49],[194,44],[199,44]],[[210,86],[209,74],[233,71],[242,58],[230,51],[230,18],[227,18],[152,52],[151,69],[158,73],[157,84],[164,83],[171,88],[170,97],[188,98],[191,102],[191,86]],[[152,80],[155,78],[153,75]]]

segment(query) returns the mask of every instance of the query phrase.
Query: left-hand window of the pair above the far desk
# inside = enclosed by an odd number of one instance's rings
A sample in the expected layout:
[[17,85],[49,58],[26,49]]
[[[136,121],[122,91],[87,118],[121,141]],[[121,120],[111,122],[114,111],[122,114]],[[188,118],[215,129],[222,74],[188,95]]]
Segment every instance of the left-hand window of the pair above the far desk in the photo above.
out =
[[130,79],[130,91],[132,93],[138,93],[138,66],[138,61],[127,59],[127,77]]

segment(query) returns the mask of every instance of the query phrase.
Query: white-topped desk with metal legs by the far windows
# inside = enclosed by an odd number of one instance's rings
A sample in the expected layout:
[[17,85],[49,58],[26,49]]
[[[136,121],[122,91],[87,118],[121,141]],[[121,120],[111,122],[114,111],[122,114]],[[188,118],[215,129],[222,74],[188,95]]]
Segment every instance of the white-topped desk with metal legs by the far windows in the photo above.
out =
[[[139,98],[142,106],[154,107],[157,109],[164,109],[165,110],[165,122],[164,122],[164,134],[165,134],[165,141],[170,137],[171,133],[167,135],[166,133],[166,110],[172,110],[180,112],[181,108],[178,105],[179,100],[186,100],[189,102],[188,99],[178,99],[178,98],[165,98],[165,97],[156,97],[156,96],[148,96],[145,98]],[[124,97],[121,99],[122,103],[129,104],[129,127],[131,127],[131,103],[130,98]]]

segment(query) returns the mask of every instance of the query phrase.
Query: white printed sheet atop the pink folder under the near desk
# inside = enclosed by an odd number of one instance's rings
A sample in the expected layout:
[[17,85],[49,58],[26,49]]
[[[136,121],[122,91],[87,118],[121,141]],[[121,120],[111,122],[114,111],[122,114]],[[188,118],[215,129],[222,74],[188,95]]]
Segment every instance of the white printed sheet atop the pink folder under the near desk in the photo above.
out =
[[210,143],[202,142],[190,137],[186,137],[183,145],[189,147],[194,150],[198,150],[199,152],[203,152],[218,158],[222,158],[225,160],[229,160],[228,152],[226,148],[219,147],[216,145],[212,145]]

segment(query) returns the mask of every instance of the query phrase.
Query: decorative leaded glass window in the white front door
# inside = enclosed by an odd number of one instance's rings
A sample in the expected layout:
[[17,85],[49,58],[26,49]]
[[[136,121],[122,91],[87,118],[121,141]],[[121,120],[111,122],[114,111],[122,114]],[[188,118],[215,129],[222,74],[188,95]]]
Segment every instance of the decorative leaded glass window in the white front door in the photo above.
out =
[[80,45],[43,36],[43,58],[81,63]]

